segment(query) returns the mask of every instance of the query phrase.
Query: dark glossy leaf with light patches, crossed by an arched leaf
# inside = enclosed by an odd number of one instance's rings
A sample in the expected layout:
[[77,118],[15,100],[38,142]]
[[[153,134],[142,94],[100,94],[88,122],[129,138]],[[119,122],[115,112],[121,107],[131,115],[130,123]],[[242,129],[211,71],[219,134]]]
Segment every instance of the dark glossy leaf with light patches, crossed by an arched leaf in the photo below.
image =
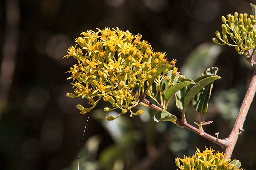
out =
[[[204,71],[202,73],[202,75],[209,75],[209,74],[215,74],[216,75],[218,70],[219,70],[219,68],[212,67],[212,68],[209,68],[206,71]],[[201,116],[205,115],[205,113],[207,112],[208,101],[209,101],[210,96],[211,96],[212,87],[213,87],[213,82],[211,84],[208,84],[205,87],[203,87],[193,97],[192,105],[193,105],[194,109],[196,110],[196,112],[200,113]]]

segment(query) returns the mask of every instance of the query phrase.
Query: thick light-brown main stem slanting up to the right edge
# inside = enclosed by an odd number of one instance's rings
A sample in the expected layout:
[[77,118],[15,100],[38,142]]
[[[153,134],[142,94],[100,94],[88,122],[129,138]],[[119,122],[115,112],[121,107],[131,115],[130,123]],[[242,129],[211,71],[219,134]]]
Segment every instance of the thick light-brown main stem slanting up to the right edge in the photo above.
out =
[[238,135],[241,134],[242,131],[244,131],[244,129],[243,129],[244,121],[245,121],[246,115],[248,113],[248,110],[250,108],[250,105],[252,103],[255,92],[256,92],[256,68],[254,70],[252,80],[248,86],[243,103],[242,103],[239,113],[237,115],[234,127],[228,136],[229,144],[225,151],[226,152],[225,158],[230,158],[230,156],[234,150],[234,147],[236,145]]

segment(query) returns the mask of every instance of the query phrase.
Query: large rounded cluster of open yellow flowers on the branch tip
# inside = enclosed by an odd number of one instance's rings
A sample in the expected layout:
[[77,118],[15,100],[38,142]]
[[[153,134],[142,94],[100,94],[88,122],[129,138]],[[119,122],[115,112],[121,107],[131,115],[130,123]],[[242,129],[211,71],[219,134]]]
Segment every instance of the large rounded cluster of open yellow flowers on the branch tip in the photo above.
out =
[[113,108],[106,107],[105,111],[120,108],[121,114],[127,110],[132,115],[143,112],[133,113],[131,108],[138,104],[140,94],[144,95],[144,83],[156,73],[156,64],[165,62],[166,58],[165,53],[153,52],[150,43],[140,39],[139,34],[109,27],[83,32],[76,38],[80,47],[71,46],[64,57],[73,56],[78,61],[68,71],[76,94],[67,93],[67,96],[88,98],[92,105],[86,109],[77,107],[81,114],[95,107],[100,98],[112,104]]

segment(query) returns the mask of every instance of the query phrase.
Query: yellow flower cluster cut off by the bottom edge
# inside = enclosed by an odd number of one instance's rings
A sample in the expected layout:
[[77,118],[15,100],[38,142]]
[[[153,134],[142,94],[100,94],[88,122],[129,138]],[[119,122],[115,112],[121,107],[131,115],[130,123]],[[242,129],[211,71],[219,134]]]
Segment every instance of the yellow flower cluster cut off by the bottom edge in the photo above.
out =
[[[223,152],[213,154],[212,152],[214,152],[214,150],[212,147],[210,149],[206,148],[203,152],[200,152],[198,148],[196,149],[196,154],[192,157],[188,158],[184,155],[184,159],[175,158],[176,166],[178,166],[180,170],[243,170],[242,168],[239,169],[237,166],[236,163],[239,162],[238,160],[230,162],[230,158],[224,158],[225,154],[223,154]],[[180,161],[183,165],[180,165]]]

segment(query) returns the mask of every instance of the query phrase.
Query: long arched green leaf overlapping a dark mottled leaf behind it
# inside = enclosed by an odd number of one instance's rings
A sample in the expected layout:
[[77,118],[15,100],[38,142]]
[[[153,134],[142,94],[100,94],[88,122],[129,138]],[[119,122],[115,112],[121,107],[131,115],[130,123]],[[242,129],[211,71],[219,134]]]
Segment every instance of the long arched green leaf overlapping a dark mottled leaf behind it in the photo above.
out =
[[206,85],[209,83],[212,83],[214,80],[220,79],[220,76],[214,75],[214,74],[209,74],[209,75],[204,75],[199,78],[196,78],[194,81],[196,84],[191,84],[188,86],[187,92],[186,92],[186,97],[184,100],[184,107],[188,106],[188,103],[192,98]]

